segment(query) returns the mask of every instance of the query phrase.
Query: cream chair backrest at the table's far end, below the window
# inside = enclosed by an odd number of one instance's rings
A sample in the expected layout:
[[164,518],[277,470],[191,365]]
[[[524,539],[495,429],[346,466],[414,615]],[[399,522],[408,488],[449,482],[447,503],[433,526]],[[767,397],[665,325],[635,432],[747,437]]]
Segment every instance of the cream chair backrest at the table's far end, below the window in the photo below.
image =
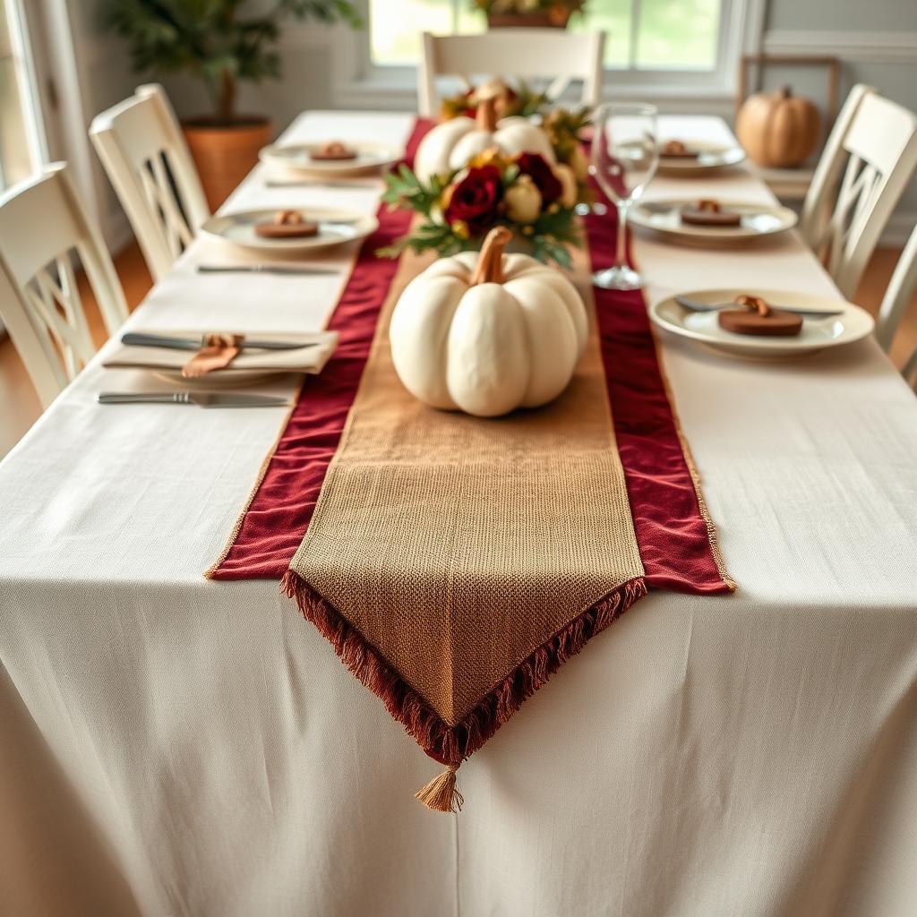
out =
[[[582,80],[582,104],[598,105],[602,95],[604,32],[577,35],[559,28],[496,28],[481,35],[424,33],[424,59],[417,71],[420,114],[435,116],[437,76],[488,75],[536,79],[554,77],[551,99],[573,80]],[[494,72],[495,68],[500,72]]]

